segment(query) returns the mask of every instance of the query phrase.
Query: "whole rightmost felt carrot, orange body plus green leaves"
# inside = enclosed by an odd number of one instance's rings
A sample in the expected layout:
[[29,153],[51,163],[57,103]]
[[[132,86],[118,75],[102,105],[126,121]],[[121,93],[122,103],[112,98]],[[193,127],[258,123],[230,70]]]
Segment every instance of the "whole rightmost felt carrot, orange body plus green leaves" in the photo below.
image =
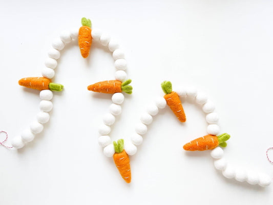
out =
[[230,135],[227,133],[221,134],[219,136],[216,135],[206,135],[203,137],[199,137],[197,139],[188,142],[183,146],[183,149],[186,151],[204,151],[204,150],[212,150],[216,148],[218,145],[221,147],[226,147],[226,140],[230,138]]

